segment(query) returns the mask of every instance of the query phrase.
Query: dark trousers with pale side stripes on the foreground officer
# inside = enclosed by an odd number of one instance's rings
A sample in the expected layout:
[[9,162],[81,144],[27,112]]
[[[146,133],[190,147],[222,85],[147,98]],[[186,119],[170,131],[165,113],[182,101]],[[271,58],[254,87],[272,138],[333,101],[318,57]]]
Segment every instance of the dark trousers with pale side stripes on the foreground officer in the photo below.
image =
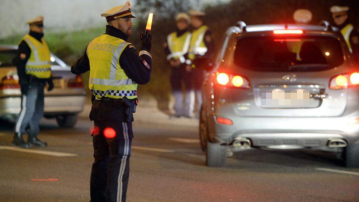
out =
[[[132,123],[94,121],[99,134],[93,134],[94,159],[90,178],[92,202],[126,201],[129,183]],[[106,138],[103,131],[112,128],[116,137]],[[95,131],[95,130],[94,130]]]

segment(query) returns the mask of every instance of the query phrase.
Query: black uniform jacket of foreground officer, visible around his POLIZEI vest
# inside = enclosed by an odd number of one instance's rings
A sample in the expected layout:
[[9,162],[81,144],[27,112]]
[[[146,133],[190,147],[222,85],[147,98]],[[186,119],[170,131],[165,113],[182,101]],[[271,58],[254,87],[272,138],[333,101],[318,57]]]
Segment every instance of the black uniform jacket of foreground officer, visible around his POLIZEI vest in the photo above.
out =
[[[106,26],[105,34],[125,41],[128,38],[125,33],[109,25]],[[149,67],[144,65],[144,61]],[[137,84],[146,84],[150,81],[152,60],[148,55],[139,56],[134,46],[129,45],[123,50],[119,62],[121,68],[132,81]],[[84,55],[71,67],[71,72],[80,75],[89,70],[90,61],[85,51]],[[124,110],[125,106],[119,101],[100,101],[95,100],[93,96],[90,120],[125,121]]]

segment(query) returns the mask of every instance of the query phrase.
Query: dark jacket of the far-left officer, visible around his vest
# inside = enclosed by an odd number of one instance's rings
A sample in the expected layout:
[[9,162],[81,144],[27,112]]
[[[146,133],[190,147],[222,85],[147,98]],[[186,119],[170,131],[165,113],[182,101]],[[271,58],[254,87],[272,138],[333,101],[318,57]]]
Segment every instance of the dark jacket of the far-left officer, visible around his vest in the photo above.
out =
[[[42,42],[41,41],[41,38],[43,37],[42,33],[30,31],[29,35],[36,38],[36,40],[38,40],[39,42]],[[13,59],[13,64],[16,66],[16,68],[18,70],[19,84],[21,86],[28,85],[30,80],[34,80],[34,79],[37,79],[38,81],[43,81],[43,82],[49,80],[49,79],[39,79],[39,78],[32,77],[32,76],[26,74],[25,66],[26,66],[27,61],[30,58],[30,54],[31,54],[30,47],[27,45],[27,43],[24,40],[22,40],[20,42],[18,52],[17,52],[15,58]]]

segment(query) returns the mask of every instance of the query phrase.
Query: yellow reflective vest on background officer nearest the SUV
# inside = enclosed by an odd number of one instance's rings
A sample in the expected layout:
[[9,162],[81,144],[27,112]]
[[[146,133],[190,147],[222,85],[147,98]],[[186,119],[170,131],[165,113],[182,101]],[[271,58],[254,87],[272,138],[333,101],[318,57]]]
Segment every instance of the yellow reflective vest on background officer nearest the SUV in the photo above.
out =
[[188,51],[188,58],[190,60],[195,59],[195,55],[203,56],[208,51],[207,46],[203,41],[203,37],[208,29],[208,26],[202,25],[192,32],[190,49]]

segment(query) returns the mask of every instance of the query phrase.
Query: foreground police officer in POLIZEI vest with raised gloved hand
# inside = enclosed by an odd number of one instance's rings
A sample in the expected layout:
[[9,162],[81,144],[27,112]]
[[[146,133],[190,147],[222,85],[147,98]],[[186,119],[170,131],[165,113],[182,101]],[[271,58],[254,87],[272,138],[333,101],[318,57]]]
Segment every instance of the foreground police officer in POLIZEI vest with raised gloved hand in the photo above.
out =
[[106,17],[106,33],[94,38],[71,67],[74,74],[90,71],[93,93],[90,119],[94,120],[94,159],[90,178],[91,201],[126,201],[131,155],[132,113],[137,84],[151,73],[151,36],[141,35],[140,52],[126,42],[132,34],[130,3],[114,7]]

